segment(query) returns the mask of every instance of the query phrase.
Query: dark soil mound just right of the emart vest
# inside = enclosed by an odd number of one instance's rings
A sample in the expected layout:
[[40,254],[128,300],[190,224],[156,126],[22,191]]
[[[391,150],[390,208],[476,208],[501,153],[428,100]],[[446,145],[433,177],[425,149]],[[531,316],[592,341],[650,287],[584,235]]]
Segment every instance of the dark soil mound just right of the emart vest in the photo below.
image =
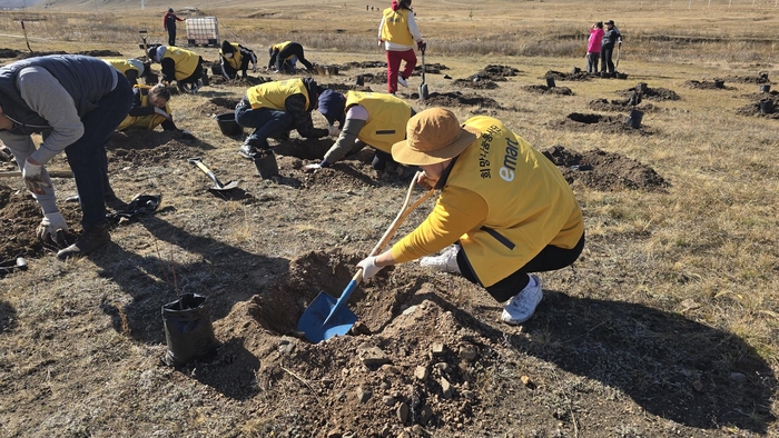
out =
[[[553,146],[545,151],[549,158],[573,185],[580,183],[595,190],[663,190],[669,183],[654,169],[619,153],[600,149],[583,153]],[[579,170],[589,169],[589,170]]]

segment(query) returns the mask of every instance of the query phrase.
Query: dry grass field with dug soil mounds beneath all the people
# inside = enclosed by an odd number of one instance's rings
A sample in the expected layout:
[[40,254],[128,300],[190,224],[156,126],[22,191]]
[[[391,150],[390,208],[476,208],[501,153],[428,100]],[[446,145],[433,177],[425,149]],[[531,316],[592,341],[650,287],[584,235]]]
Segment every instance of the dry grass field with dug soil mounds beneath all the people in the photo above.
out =
[[[28,52],[23,19],[36,52],[141,56],[138,30],[166,41],[160,21],[172,6],[218,17],[220,37],[253,48],[260,66],[270,43],[299,41],[312,61],[341,66],[315,79],[347,89],[357,74],[385,71],[348,64],[384,60],[381,12],[366,4],[56,2],[2,12],[0,49]],[[127,132],[109,143],[117,193],[160,193],[162,203],[118,225],[107,250],[57,260],[34,241],[38,211],[21,180],[0,179],[0,261],[29,263],[0,277],[0,437],[779,436],[779,116],[758,109],[761,99],[779,107],[775,3],[414,7],[425,61],[441,70],[426,74],[430,100],[412,96],[420,76],[401,97],[461,120],[496,117],[540,150],[562,147],[563,158],[593,165],[556,162],[583,207],[588,242],[572,268],[542,275],[535,316],[501,325],[501,306],[483,290],[406,263],[352,297],[359,332],[319,345],[296,337],[307,303],[319,290],[338,296],[395,217],[413,169],[378,175],[361,153],[304,173],[331,142],[293,131],[275,148],[283,178],[263,180],[213,116],[257,78],[283,77],[213,78],[171,102],[196,140]],[[588,28],[608,19],[624,34],[627,79],[570,74],[585,67]],[[193,50],[217,60],[217,49]],[[495,87],[469,79],[490,64],[515,74],[493,77]],[[550,74],[556,90],[540,87]],[[714,79],[724,87],[709,87]],[[631,129],[625,102],[638,82],[652,93]],[[316,111],[314,120],[326,125]],[[196,156],[239,189],[208,192],[187,163]],[[0,170],[13,166],[0,156]],[[56,183],[78,232],[78,206],[65,202],[75,186]],[[160,361],[160,307],[177,292],[208,296],[221,346],[207,362]],[[371,347],[387,362],[367,360]],[[415,377],[417,367],[428,375]]]

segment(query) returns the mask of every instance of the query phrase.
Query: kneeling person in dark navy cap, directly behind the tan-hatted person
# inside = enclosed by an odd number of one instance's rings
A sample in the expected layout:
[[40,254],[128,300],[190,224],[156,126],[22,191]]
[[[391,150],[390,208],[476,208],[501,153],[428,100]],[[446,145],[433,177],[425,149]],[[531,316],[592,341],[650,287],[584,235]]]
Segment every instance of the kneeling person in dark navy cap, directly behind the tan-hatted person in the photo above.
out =
[[[384,170],[392,159],[392,146],[406,137],[406,123],[416,112],[403,99],[391,94],[349,91],[346,96],[325,90],[319,96],[319,112],[329,122],[331,135],[338,136],[335,145],[318,165],[304,171],[329,167],[347,155],[357,153],[366,145],[376,148],[372,167]],[[335,122],[338,122],[338,128]]]

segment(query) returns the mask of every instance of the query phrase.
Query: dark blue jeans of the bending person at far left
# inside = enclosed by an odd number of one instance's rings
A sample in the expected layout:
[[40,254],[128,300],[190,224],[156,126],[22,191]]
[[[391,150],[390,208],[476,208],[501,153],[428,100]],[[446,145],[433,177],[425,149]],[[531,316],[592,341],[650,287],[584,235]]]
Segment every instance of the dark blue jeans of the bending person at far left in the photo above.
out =
[[103,172],[106,169],[106,143],[119,123],[132,108],[132,89],[124,74],[118,74],[114,91],[98,101],[98,107],[81,118],[83,136],[65,148],[68,163],[73,171],[76,190],[87,229],[106,222],[103,199]]

